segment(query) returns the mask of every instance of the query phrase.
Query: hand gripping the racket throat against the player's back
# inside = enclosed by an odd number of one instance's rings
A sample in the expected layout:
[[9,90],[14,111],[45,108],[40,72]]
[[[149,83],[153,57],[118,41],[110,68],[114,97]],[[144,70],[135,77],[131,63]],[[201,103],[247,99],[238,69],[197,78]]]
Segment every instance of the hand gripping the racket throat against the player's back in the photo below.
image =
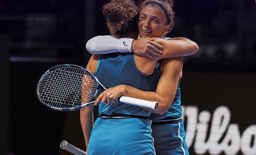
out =
[[117,85],[112,88],[108,88],[107,90],[103,91],[96,99],[95,105],[98,105],[99,101],[101,100],[101,103],[115,103],[115,99],[120,97],[122,93],[125,92],[124,85]]

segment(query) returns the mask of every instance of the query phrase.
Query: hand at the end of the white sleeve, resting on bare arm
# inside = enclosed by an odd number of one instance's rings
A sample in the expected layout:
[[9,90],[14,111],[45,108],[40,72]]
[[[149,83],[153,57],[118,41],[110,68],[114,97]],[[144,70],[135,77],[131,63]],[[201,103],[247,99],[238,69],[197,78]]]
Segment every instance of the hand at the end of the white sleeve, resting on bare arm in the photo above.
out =
[[140,56],[147,56],[154,60],[155,56],[159,57],[162,54],[161,45],[153,42],[154,38],[140,38],[134,40],[132,44],[132,51]]

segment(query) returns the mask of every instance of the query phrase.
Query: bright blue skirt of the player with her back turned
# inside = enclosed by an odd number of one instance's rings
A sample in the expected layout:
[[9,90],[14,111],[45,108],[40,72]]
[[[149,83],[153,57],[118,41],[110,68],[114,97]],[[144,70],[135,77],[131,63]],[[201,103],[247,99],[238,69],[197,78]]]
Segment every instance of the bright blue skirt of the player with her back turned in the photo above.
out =
[[149,119],[98,117],[91,132],[88,155],[155,155]]

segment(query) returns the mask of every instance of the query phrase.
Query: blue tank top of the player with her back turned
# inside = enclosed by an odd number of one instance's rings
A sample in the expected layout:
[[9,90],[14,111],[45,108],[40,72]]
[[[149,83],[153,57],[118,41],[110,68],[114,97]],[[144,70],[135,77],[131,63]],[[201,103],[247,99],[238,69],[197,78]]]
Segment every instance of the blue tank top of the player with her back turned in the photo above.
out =
[[[144,90],[154,91],[155,75],[146,75],[139,71],[133,53],[111,53],[99,55],[95,76],[106,87],[120,84]],[[116,102],[114,104],[99,103],[99,116],[102,114],[130,114],[149,117],[151,112],[141,107]]]

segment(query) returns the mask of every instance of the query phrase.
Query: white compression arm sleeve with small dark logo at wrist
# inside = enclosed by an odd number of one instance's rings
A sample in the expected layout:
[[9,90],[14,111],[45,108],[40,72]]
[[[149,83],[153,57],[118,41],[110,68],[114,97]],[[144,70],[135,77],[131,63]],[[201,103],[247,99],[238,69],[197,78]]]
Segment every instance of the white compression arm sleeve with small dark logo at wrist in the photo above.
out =
[[107,54],[115,52],[132,52],[131,38],[114,38],[113,36],[96,36],[86,43],[86,50],[91,54]]

